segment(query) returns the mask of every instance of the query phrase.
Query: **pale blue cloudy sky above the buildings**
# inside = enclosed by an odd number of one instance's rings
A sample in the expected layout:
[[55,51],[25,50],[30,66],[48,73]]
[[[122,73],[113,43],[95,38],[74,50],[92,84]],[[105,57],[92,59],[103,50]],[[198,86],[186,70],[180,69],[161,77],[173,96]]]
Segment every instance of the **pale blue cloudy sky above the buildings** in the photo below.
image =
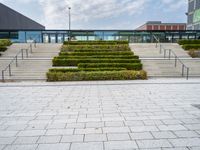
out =
[[46,29],[135,29],[147,21],[186,23],[188,0],[0,0]]

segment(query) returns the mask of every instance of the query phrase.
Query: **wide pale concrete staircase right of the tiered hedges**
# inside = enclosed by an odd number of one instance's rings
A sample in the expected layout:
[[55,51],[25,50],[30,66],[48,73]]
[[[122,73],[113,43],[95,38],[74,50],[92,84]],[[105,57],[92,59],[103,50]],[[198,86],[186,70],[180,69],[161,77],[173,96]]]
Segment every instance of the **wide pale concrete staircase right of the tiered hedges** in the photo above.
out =
[[[190,77],[200,77],[200,59],[191,58],[178,44],[162,43],[165,49],[172,49],[181,61],[190,68]],[[164,58],[164,51],[160,53],[159,46],[156,44],[130,44],[131,49],[136,55],[140,56],[149,77],[182,77],[182,65],[175,59]],[[168,53],[167,53],[168,55]],[[186,70],[184,75],[186,75]]]

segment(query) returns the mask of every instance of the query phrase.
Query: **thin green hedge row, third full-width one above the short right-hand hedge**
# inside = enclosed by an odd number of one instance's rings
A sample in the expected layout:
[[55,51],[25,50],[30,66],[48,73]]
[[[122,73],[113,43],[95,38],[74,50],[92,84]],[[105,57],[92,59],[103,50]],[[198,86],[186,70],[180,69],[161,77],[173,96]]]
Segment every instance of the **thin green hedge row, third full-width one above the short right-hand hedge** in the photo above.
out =
[[134,55],[133,52],[60,52],[60,56]]

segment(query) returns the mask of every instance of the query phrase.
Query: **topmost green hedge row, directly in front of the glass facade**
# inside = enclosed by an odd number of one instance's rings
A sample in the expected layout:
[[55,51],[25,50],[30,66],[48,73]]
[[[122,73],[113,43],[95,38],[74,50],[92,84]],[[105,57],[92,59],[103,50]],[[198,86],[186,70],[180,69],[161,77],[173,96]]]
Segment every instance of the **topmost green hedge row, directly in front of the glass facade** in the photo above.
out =
[[95,44],[128,44],[128,41],[65,41],[64,45],[95,45]]

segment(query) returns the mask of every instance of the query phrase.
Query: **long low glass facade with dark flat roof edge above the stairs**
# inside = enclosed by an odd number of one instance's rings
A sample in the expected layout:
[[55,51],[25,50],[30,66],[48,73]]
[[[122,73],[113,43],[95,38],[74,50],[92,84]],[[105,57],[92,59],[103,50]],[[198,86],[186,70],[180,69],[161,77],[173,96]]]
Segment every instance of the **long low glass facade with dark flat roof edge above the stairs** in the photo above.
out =
[[177,42],[179,39],[200,39],[200,31],[136,31],[136,30],[44,30],[44,31],[0,31],[0,38],[9,38],[13,42],[26,43],[62,43],[69,37],[74,41],[126,40],[130,43],[152,43],[154,36],[161,42]]

